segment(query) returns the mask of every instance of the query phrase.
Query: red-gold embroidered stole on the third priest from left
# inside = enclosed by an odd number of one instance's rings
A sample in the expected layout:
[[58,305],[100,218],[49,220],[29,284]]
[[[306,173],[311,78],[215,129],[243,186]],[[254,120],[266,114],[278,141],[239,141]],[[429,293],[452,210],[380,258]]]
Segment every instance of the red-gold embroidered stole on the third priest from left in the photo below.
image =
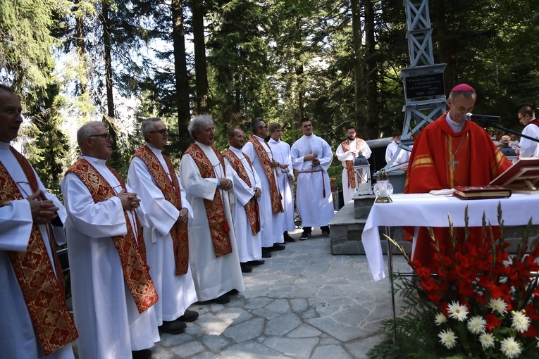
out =
[[[180,183],[174,166],[167,156],[163,155],[168,172],[171,174],[169,180],[159,158],[155,155],[148,146],[142,146],[135,152],[135,157],[140,158],[147,165],[151,176],[157,184],[157,187],[163,192],[165,199],[173,204],[178,210],[182,210],[182,194]],[[187,234],[187,223],[181,225],[176,222],[171,228],[171,237],[174,246],[174,258],[176,262],[175,275],[185,275],[189,268],[189,237]]]

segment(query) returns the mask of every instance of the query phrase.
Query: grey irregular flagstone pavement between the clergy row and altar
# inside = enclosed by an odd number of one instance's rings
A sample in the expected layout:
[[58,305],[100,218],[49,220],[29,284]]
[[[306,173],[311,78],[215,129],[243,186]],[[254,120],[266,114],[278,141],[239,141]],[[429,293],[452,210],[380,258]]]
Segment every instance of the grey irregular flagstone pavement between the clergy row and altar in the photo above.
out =
[[[390,317],[388,279],[375,282],[365,256],[332,256],[320,229],[272,252],[244,274],[230,303],[194,303],[200,317],[182,334],[162,334],[152,358],[367,358]],[[405,270],[402,256],[395,267]]]

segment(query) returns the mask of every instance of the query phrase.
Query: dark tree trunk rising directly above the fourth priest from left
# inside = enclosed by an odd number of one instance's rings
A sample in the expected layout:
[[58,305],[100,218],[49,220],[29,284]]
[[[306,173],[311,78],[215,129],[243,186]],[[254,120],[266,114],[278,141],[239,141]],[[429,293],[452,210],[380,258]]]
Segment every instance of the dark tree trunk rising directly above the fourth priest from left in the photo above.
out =
[[192,0],[194,75],[197,87],[197,113],[208,113],[208,73],[206,68],[206,42],[204,39],[204,5]]

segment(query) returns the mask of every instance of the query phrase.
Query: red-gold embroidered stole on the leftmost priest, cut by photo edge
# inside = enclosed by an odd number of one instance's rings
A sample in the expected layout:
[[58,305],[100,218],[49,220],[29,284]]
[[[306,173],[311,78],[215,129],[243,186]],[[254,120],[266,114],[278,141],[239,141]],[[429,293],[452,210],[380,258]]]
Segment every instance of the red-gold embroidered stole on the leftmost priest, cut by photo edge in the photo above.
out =
[[[34,170],[28,160],[13,147],[10,150],[30,184],[32,193],[38,190]],[[8,206],[11,201],[24,199],[17,184],[8,170],[0,163],[0,207]],[[47,224],[47,226],[50,226]],[[49,227],[51,236],[52,229]],[[39,227],[34,224],[25,252],[7,251],[17,282],[23,292],[30,320],[39,344],[45,355],[63,348],[78,338],[75,323],[69,314],[64,293],[63,275],[60,260],[56,254],[56,241],[51,238],[51,252],[54,256],[56,276],[49,258],[47,247]]]

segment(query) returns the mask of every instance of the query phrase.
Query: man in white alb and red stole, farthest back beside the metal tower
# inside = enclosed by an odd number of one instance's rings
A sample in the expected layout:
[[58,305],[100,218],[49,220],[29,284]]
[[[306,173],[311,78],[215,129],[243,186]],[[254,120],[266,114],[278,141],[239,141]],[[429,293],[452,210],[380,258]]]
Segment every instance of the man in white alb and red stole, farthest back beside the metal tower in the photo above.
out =
[[347,139],[337,147],[335,155],[341,161],[342,167],[342,197],[345,203],[352,201],[356,192],[356,177],[354,175],[354,160],[357,156],[371,157],[371,148],[366,141],[356,137],[356,127],[350,126],[346,130]]

